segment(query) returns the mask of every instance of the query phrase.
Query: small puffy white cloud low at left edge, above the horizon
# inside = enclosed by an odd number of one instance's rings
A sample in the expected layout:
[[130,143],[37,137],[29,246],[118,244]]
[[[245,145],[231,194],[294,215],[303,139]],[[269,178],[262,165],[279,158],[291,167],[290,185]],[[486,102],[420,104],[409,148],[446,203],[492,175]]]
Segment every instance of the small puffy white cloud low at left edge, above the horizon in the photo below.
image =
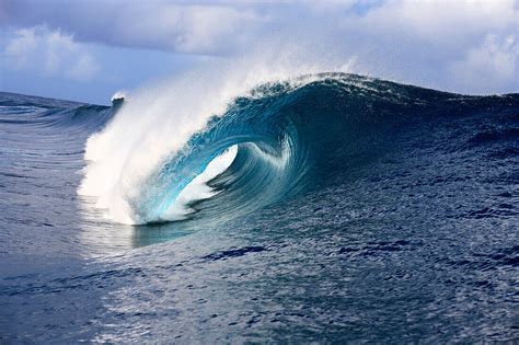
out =
[[86,81],[99,70],[95,59],[71,35],[46,26],[15,31],[2,54],[8,68],[43,77]]

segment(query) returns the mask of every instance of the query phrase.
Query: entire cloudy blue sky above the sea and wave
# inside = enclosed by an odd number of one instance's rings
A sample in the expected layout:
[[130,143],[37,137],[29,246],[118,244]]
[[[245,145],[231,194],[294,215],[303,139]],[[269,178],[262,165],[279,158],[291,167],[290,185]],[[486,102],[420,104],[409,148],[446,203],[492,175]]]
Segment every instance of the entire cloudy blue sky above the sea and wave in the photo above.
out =
[[0,31],[0,91],[97,104],[287,50],[336,62],[323,71],[519,92],[519,0],[1,0]]

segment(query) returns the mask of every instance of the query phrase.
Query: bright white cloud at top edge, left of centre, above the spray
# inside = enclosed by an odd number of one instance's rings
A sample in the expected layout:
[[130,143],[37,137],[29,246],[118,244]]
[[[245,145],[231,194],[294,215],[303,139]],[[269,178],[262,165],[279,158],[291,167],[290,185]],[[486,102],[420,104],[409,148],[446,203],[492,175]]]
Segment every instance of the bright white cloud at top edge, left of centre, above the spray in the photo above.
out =
[[[249,9],[142,2],[120,9],[104,33],[86,39],[188,54],[223,54],[254,34],[262,18]],[[94,36],[94,35],[92,35]]]

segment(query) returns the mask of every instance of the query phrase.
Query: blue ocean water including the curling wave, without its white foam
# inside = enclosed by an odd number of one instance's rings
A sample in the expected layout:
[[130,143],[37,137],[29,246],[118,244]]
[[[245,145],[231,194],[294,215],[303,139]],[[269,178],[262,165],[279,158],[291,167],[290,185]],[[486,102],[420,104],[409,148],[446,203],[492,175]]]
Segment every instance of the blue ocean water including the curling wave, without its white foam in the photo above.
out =
[[260,85],[141,180],[139,226],[78,194],[125,106],[0,93],[2,343],[519,340],[519,94]]

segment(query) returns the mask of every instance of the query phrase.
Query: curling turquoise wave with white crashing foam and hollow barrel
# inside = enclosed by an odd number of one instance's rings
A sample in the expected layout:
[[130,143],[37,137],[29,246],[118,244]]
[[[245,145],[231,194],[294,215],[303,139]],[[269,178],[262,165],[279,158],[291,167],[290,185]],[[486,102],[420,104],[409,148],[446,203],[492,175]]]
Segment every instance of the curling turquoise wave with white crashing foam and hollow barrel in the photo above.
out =
[[489,102],[517,104],[517,96],[321,73],[260,84],[230,97],[220,114],[177,117],[173,107],[165,123],[154,104],[131,102],[90,138],[80,194],[96,196],[115,221],[143,225],[251,212],[333,184],[349,166],[387,151],[403,126]]

